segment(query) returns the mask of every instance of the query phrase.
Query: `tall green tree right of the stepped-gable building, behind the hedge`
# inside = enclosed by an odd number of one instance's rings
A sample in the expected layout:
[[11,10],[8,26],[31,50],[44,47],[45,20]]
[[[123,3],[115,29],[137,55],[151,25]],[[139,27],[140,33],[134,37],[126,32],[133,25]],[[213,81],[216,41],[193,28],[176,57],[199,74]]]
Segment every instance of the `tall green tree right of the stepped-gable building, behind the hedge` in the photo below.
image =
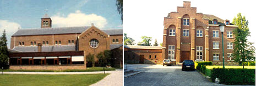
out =
[[250,36],[248,20],[246,20],[246,17],[242,16],[241,13],[238,13],[232,23],[238,26],[238,28],[233,30],[235,35],[233,57],[235,62],[241,62],[242,60],[244,69],[244,62],[255,60],[255,48],[252,46],[253,43],[247,41],[247,36]]

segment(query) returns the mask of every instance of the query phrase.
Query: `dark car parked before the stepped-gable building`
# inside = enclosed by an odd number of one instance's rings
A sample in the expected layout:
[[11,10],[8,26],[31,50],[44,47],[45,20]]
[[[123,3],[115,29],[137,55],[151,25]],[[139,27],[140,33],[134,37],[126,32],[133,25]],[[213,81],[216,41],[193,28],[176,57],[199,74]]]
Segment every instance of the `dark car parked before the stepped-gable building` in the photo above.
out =
[[182,62],[182,71],[184,70],[195,70],[195,63],[193,62],[193,60],[184,60]]

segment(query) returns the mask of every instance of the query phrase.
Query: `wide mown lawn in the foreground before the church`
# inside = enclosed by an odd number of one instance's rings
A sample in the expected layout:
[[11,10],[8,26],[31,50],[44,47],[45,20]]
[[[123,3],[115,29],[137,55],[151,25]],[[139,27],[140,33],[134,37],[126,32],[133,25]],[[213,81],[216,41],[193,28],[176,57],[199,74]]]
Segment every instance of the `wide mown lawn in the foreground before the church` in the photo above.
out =
[[4,74],[0,75],[0,85],[91,85],[109,75],[87,74],[87,75],[23,75],[23,74]]

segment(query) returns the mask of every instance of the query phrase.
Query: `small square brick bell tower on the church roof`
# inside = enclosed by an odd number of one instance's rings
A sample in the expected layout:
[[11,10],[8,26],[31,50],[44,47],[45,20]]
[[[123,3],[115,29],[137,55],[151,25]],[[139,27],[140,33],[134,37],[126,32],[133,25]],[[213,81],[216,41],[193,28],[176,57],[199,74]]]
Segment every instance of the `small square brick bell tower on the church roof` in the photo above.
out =
[[43,15],[41,18],[41,28],[51,28],[52,27],[52,20],[48,16],[48,14]]

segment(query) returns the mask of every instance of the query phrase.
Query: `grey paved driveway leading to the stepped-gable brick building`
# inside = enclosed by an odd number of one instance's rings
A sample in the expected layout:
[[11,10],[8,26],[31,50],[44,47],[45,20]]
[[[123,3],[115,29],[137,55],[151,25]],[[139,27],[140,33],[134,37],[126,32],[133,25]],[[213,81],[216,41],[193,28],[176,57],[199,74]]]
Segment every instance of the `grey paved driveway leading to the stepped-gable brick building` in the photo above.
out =
[[[126,67],[126,65],[124,66]],[[162,66],[135,64],[127,69],[144,71],[124,78],[124,85],[224,85],[208,81],[197,71],[182,71],[180,65]]]

